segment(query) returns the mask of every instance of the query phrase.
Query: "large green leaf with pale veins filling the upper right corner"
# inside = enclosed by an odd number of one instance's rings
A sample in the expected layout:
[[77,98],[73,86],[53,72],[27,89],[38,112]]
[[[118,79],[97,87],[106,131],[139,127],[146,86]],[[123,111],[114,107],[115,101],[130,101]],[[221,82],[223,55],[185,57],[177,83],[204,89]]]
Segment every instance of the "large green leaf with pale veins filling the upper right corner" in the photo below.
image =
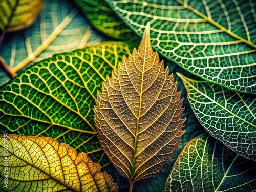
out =
[[207,81],[256,93],[255,1],[113,1],[117,15],[152,46]]

